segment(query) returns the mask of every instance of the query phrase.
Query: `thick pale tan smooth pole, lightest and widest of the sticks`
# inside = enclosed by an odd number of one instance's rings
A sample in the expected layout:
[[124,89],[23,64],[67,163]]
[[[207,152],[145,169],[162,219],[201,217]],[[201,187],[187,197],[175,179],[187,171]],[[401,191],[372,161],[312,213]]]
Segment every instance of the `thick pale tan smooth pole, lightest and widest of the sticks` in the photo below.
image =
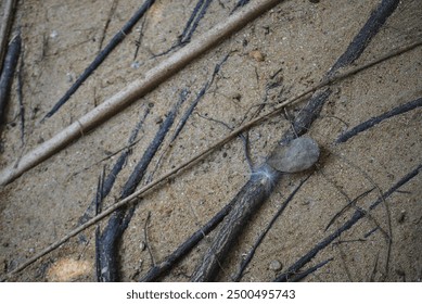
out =
[[216,47],[218,42],[279,3],[280,0],[256,1],[256,3],[250,4],[244,10],[240,10],[238,13],[229,16],[225,22],[217,24],[203,36],[192,40],[187,47],[180,49],[161,64],[150,69],[144,74],[144,78],[135,80],[126,89],[105,100],[51,139],[24,155],[17,164],[12,164],[7,167],[0,173],[0,185],[11,182],[24,172],[38,165],[79,138],[81,134],[87,134],[88,130],[100,125],[106,118],[117,114],[129,103],[146,94],[194,59],[210,48]]

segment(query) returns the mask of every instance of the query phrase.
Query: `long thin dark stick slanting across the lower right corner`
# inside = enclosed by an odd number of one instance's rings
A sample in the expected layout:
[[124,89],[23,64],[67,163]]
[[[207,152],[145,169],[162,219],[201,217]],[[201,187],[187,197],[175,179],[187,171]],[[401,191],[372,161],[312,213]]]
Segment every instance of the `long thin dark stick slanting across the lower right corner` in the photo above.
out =
[[[374,203],[371,204],[369,211],[374,210],[383,200],[387,199],[392,195],[397,189],[404,186],[406,182],[410,181],[422,170],[422,165],[419,165],[415,169],[411,170],[409,174],[404,176],[400,180],[398,180],[387,192],[383,193],[382,198],[378,199]],[[300,269],[304,265],[306,265],[310,259],[312,259],[321,250],[327,248],[332,241],[338,238],[344,231],[350,229],[356,223],[358,223],[361,218],[363,218],[366,213],[361,210],[356,210],[354,215],[336,231],[331,233],[329,237],[319,242],[314,249],[311,249],[308,253],[302,256],[296,263],[289,267],[289,269],[277,277],[276,281],[289,281],[289,278],[292,274],[296,274],[298,269]]]

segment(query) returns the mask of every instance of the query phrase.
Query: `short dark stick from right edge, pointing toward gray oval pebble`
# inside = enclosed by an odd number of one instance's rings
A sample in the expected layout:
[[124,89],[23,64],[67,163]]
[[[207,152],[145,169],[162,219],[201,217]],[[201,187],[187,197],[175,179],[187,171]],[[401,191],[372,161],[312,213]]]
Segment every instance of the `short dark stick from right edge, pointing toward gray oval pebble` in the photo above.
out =
[[381,123],[384,119],[391,118],[395,115],[399,115],[399,114],[409,112],[409,111],[417,109],[419,106],[422,106],[422,98],[418,98],[413,101],[398,105],[398,106],[389,110],[388,112],[385,112],[379,116],[372,117],[372,118],[357,125],[356,127],[354,127],[350,130],[346,131],[345,134],[341,135],[335,142],[336,143],[346,142],[351,137],[375,126],[376,124]]

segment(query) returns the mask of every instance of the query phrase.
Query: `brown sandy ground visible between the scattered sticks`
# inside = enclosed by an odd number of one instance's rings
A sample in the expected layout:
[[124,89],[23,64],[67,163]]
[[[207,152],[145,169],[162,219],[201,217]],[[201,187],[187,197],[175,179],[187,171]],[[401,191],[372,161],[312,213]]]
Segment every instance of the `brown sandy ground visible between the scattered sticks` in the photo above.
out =
[[[314,3],[318,2],[318,3]],[[178,121],[215,65],[229,54],[212,86],[166,151],[154,177],[189,160],[261,111],[318,84],[345,51],[380,1],[282,1],[242,30],[192,62],[176,76],[123,112],[0,189],[0,276],[77,226],[95,195],[98,178],[107,173],[125,148],[131,130],[149,107],[139,141],[118,175],[106,207],[114,203],[159,123],[183,89],[188,100]],[[140,5],[140,1],[20,1],[14,28],[23,37],[24,140],[18,118],[16,81],[1,132],[0,169],[51,138],[106,98],[163,61],[154,56],[176,43],[196,1],[159,0],[126,39],[112,52],[74,97],[43,124],[40,119],[62,97],[106,42]],[[227,18],[235,1],[213,1],[193,35],[194,39]],[[421,39],[422,8],[419,1],[402,1],[372,39],[357,65],[370,62],[400,46]],[[142,27],[143,24],[143,27]],[[135,58],[142,28],[142,39]],[[171,54],[171,53],[170,53]],[[354,212],[342,214],[325,226],[349,200],[360,199],[368,208],[421,164],[422,109],[392,117],[345,143],[334,144],[346,129],[421,97],[422,48],[366,69],[333,85],[333,93],[308,135],[317,140],[322,156],[314,174],[276,221],[242,281],[270,281]],[[277,74],[277,72],[279,72]],[[272,77],[277,74],[276,77]],[[271,78],[272,77],[272,78]],[[268,89],[271,81],[279,86]],[[289,109],[294,115],[304,104]],[[252,109],[252,110],[251,110]],[[223,122],[227,126],[219,123]],[[172,127],[174,129],[175,127]],[[261,163],[290,128],[284,115],[250,131],[253,162]],[[163,148],[167,145],[166,138]],[[149,166],[151,173],[163,148]],[[277,208],[310,172],[285,176],[270,199],[244,228],[219,280],[230,280]],[[209,156],[150,191],[139,203],[122,240],[122,280],[139,280],[152,266],[144,250],[144,228],[155,262],[162,262],[192,232],[225,206],[248,179],[243,142],[234,139]],[[146,175],[148,177],[148,175]],[[320,252],[307,266],[333,258],[308,276],[307,281],[420,281],[422,278],[421,175],[392,194],[370,215]],[[141,182],[144,185],[144,181]],[[148,215],[150,220],[145,226]],[[105,220],[101,223],[104,227]],[[368,235],[374,228],[378,229]],[[94,228],[73,238],[17,276],[15,281],[94,281]],[[214,233],[203,240],[165,281],[187,281]],[[392,240],[391,250],[388,237]],[[387,258],[389,252],[389,258]],[[279,262],[281,264],[277,265]],[[276,266],[274,266],[276,265]],[[305,267],[305,268],[307,268]]]

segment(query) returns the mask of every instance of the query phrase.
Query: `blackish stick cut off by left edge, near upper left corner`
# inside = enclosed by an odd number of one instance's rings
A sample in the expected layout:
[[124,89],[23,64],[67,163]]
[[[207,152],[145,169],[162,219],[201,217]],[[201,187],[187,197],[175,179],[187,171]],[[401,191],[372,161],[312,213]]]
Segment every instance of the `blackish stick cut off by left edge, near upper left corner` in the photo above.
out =
[[0,76],[0,125],[4,123],[5,105],[9,98],[13,75],[21,53],[21,33],[12,38],[8,53],[4,58],[4,65]]

